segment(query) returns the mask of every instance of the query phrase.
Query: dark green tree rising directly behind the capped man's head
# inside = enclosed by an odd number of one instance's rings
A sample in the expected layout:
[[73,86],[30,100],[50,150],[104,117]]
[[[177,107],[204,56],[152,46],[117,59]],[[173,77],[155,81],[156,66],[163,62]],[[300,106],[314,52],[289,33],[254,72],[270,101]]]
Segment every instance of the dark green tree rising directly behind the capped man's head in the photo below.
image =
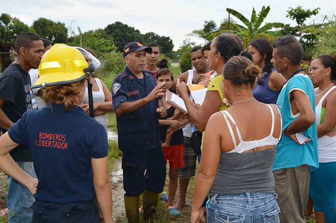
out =
[[139,30],[129,27],[121,22],[115,22],[105,27],[105,32],[113,37],[114,44],[120,52],[128,42],[139,41],[142,43],[143,38]]

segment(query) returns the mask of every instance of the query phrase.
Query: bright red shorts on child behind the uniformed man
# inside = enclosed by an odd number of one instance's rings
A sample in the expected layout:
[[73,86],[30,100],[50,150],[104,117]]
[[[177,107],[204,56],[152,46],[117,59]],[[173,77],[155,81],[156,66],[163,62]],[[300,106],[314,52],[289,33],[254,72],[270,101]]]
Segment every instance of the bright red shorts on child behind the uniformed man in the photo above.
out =
[[169,147],[163,147],[165,164],[167,164],[167,159],[169,160],[169,168],[178,169],[184,166],[183,162],[183,151],[184,145],[174,145]]

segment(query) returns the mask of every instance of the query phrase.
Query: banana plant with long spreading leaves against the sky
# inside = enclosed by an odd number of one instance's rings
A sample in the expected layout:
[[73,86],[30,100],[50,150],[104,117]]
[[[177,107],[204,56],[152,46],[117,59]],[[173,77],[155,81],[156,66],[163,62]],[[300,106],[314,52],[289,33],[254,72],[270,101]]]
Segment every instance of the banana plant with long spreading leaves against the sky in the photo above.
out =
[[219,30],[209,32],[206,35],[209,41],[213,40],[220,33],[229,32],[237,35],[240,39],[242,39],[244,48],[247,48],[248,44],[255,38],[264,38],[269,41],[274,41],[276,36],[271,34],[274,34],[275,32],[270,33],[269,30],[273,28],[281,28],[284,26],[283,23],[266,23],[260,27],[270,11],[269,6],[262,6],[258,15],[256,14],[253,7],[251,20],[248,20],[244,15],[234,9],[226,8],[226,11],[239,19],[245,26],[239,25],[237,23],[225,22],[221,24],[221,28]]

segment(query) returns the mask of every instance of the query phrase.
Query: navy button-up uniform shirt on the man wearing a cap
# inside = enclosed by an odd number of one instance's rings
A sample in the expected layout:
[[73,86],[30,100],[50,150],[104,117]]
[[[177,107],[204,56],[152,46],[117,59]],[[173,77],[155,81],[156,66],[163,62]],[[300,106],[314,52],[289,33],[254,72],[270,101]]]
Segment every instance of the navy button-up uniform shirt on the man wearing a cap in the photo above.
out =
[[[155,88],[154,75],[149,70],[142,71],[138,79],[128,67],[114,78],[112,84],[113,108],[116,110],[124,102],[132,102],[149,95]],[[123,115],[117,115],[119,149],[125,152],[138,152],[158,148],[160,142],[158,99],[142,108]]]

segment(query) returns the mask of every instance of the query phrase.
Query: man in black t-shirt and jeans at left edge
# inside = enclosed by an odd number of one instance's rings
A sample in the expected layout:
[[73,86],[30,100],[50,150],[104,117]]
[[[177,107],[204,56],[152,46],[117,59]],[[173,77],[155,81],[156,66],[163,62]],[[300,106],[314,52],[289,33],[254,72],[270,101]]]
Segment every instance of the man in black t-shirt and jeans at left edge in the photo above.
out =
[[[27,110],[37,109],[31,91],[28,70],[38,68],[43,56],[43,42],[39,35],[24,32],[15,40],[17,58],[0,76],[0,127],[4,134]],[[36,178],[33,159],[27,147],[19,145],[10,152],[17,164]],[[8,220],[9,223],[28,223],[32,221],[35,201],[29,190],[18,181],[8,177]]]

